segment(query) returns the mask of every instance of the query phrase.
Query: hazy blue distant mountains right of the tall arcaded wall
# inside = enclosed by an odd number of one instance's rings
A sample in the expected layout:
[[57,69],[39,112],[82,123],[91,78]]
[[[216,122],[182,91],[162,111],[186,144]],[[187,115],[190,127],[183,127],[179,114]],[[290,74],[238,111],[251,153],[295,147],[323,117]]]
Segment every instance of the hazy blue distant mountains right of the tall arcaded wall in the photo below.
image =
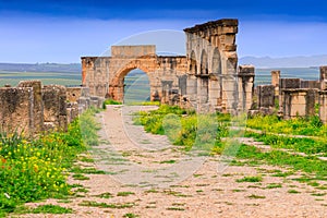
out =
[[253,64],[255,68],[311,68],[327,65],[327,55],[286,58],[243,57],[239,62],[240,64]]

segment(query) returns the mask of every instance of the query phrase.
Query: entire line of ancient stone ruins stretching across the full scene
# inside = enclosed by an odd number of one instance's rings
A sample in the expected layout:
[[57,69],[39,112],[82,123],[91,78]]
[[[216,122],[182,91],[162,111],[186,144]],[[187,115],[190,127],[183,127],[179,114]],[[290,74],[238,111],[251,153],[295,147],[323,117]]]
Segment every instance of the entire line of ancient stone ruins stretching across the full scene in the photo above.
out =
[[105,98],[123,101],[124,76],[134,69],[149,80],[150,100],[194,108],[198,112],[276,113],[283,119],[318,113],[327,123],[327,66],[319,81],[281,78],[254,87],[255,66],[239,65],[238,20],[218,20],[185,28],[186,56],[157,56],[154,45],[112,46],[110,57],[82,57],[82,86],[44,86],[24,81],[0,88],[1,131],[35,135],[66,130]]

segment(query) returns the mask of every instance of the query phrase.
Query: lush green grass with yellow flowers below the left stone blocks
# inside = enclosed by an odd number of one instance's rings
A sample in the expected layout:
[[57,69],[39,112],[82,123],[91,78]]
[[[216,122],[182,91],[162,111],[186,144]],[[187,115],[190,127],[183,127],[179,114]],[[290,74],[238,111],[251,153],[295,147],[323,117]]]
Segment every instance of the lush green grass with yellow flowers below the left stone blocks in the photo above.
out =
[[72,194],[66,183],[68,169],[98,138],[93,116],[94,111],[86,111],[68,126],[68,132],[49,132],[35,140],[24,138],[20,133],[0,133],[2,214],[14,211],[26,202]]

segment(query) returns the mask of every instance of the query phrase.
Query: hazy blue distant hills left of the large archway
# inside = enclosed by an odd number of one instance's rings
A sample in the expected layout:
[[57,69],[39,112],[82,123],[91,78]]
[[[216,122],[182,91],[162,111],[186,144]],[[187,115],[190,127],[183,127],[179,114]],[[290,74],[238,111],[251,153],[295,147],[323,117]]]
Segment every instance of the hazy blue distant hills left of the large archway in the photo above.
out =
[[81,73],[80,63],[0,63],[0,71]]

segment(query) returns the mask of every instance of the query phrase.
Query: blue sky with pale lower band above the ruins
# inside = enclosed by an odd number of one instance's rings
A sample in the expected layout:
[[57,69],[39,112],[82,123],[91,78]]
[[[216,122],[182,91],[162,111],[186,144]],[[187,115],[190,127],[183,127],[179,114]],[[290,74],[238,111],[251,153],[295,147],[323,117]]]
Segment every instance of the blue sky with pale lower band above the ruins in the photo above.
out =
[[0,0],[0,62],[80,62],[158,29],[178,31],[154,36],[178,45],[183,28],[222,17],[240,21],[240,57],[326,55],[326,11],[323,0]]

